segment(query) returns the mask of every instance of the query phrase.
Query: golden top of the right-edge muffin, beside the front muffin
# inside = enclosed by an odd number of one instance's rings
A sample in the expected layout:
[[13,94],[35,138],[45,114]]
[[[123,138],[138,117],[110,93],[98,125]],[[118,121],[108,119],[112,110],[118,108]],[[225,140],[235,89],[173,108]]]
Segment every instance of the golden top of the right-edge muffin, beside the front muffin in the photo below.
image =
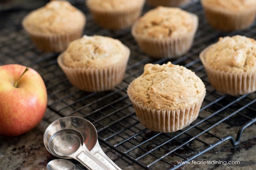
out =
[[241,35],[220,37],[204,55],[211,68],[220,71],[256,71],[256,41]]

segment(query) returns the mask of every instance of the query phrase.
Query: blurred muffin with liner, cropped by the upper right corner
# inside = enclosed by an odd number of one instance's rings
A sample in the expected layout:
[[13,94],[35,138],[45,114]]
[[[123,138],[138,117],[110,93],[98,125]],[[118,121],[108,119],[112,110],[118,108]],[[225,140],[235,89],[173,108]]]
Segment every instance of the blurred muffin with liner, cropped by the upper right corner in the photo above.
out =
[[256,0],[201,0],[206,19],[221,31],[250,27],[255,20]]

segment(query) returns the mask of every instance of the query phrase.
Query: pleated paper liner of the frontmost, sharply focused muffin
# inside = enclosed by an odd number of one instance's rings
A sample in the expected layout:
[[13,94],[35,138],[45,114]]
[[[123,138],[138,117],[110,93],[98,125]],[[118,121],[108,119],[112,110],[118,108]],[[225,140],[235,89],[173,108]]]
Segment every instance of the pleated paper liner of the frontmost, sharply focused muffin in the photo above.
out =
[[[129,87],[128,87],[129,88]],[[139,122],[157,132],[175,132],[191,124],[198,117],[205,94],[193,105],[175,110],[156,110],[139,104],[128,92]]]

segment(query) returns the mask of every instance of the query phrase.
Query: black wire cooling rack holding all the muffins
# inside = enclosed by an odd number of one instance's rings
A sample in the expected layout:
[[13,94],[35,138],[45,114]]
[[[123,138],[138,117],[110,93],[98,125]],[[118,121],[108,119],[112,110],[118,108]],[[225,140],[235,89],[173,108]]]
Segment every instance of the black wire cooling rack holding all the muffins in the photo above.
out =
[[[87,16],[84,34],[113,37],[131,49],[126,74],[119,85],[110,91],[99,93],[87,93],[74,88],[57,65],[58,53],[38,51],[23,30],[20,23],[29,12],[28,9],[1,11],[0,65],[18,63],[36,69],[47,86],[48,108],[60,116],[81,116],[88,119],[96,126],[100,143],[145,170],[171,170],[183,166],[186,161],[195,159],[223,142],[238,144],[244,128],[256,121],[256,93],[230,96],[215,91],[209,84],[198,57],[218,37],[241,34],[256,38],[255,24],[243,31],[224,33],[215,30],[208,25],[200,1],[192,0],[183,7],[199,17],[199,27],[191,50],[179,59],[158,60],[140,51],[130,29],[102,29],[93,21],[84,0],[70,2]],[[143,12],[150,8],[145,5]],[[146,63],[163,64],[168,61],[194,71],[205,83],[207,94],[198,119],[191,125],[175,133],[157,133],[138,122],[126,89],[133,79],[143,73]],[[220,125],[233,130],[221,130],[218,128]],[[177,161],[184,162],[177,164]]]

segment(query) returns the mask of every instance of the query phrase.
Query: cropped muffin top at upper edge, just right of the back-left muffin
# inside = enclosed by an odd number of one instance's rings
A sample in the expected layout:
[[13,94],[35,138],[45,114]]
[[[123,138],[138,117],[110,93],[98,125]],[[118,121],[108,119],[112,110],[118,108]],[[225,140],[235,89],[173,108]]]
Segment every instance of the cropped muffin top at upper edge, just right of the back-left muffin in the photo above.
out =
[[130,10],[131,8],[139,8],[143,6],[145,0],[87,0],[86,4],[93,9],[112,10]]

